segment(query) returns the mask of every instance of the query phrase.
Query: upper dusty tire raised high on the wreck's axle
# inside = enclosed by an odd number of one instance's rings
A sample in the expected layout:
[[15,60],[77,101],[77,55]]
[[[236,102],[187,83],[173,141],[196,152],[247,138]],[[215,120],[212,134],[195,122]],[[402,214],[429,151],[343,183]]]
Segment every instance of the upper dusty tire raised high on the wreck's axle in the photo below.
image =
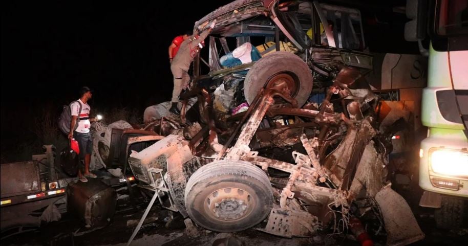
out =
[[282,79],[287,81],[291,96],[302,107],[312,92],[312,73],[299,56],[284,51],[262,57],[253,64],[244,80],[245,99],[251,104],[262,87]]

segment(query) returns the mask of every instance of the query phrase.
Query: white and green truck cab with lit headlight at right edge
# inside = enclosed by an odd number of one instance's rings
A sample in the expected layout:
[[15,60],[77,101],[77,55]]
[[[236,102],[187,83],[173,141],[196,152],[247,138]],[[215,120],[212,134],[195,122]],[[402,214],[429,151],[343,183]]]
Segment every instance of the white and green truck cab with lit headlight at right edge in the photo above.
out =
[[[419,205],[435,208],[437,226],[461,226],[468,197],[468,3],[408,1],[405,38],[429,56],[428,87],[422,93]],[[427,25],[426,25],[427,23]],[[426,31],[428,30],[428,32]],[[428,50],[422,40],[430,39]]]

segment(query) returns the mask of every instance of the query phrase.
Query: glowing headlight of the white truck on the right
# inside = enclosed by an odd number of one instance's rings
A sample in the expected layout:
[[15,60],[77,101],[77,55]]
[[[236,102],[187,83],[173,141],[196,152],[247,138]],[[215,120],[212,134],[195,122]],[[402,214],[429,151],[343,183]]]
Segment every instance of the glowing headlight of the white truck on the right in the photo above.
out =
[[429,150],[429,164],[435,173],[468,177],[468,152],[452,149]]

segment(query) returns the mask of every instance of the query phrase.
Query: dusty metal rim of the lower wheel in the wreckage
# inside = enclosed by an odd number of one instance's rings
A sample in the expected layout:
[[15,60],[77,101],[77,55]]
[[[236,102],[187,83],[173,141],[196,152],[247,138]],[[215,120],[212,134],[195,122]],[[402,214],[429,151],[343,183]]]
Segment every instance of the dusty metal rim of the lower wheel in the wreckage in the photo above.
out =
[[205,199],[207,214],[221,221],[235,221],[247,217],[255,207],[255,200],[245,190],[223,188]]

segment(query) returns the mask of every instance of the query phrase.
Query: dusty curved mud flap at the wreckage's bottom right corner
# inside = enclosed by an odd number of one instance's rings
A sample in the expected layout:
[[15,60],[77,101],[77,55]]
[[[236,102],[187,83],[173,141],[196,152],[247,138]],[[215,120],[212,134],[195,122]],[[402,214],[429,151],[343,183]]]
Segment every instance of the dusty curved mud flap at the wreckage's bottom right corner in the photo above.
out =
[[390,185],[377,192],[375,200],[384,216],[387,246],[408,245],[424,238],[410,206]]

